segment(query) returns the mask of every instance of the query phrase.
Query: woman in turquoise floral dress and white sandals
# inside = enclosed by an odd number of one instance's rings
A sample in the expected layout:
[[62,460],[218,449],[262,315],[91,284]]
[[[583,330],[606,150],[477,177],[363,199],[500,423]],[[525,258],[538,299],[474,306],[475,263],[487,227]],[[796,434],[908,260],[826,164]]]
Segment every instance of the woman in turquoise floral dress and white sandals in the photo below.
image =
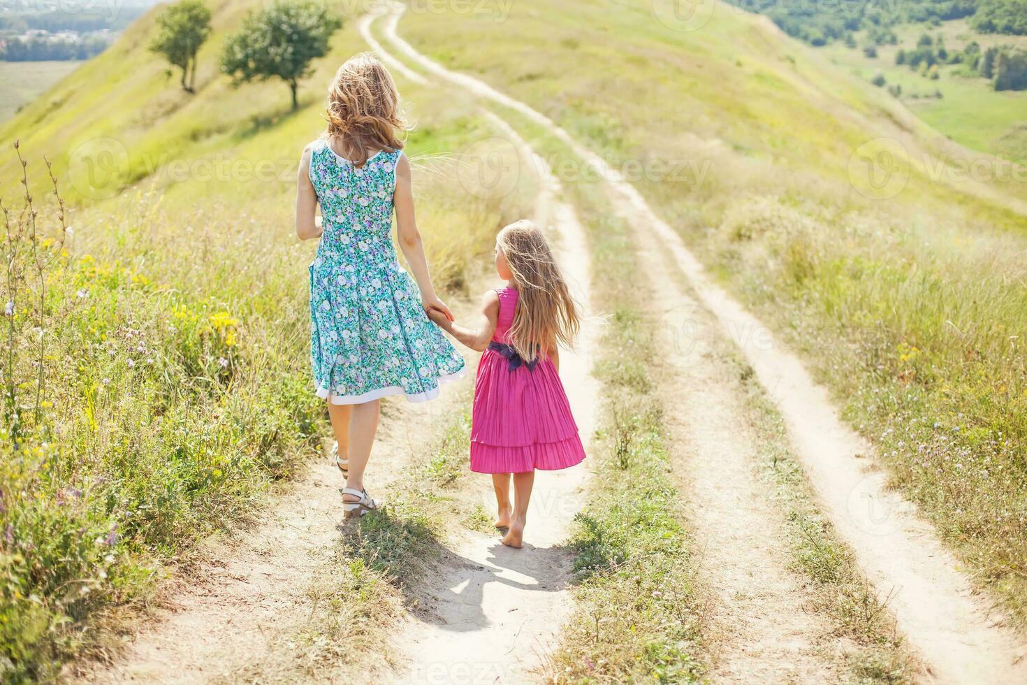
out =
[[[328,131],[303,151],[296,232],[320,238],[310,265],[310,359],[328,399],[346,477],[346,518],[378,507],[364,469],[378,429],[379,401],[431,399],[463,358],[425,312],[452,318],[435,296],[414,220],[406,128],[392,76],[370,53],[342,65],[328,92]],[[314,214],[320,204],[321,222]],[[411,279],[396,261],[396,235]],[[417,281],[416,286],[414,280]]]

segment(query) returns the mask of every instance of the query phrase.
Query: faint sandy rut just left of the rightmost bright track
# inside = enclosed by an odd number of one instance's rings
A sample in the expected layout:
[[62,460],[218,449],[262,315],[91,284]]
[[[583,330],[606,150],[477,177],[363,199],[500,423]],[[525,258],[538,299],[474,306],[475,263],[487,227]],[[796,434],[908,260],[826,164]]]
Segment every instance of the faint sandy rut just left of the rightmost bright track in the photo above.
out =
[[672,464],[688,493],[688,523],[701,544],[698,579],[712,600],[710,675],[728,683],[838,682],[848,641],[806,609],[813,598],[805,578],[789,568],[787,522],[755,471],[760,437],[749,423],[731,343],[678,286],[662,245],[644,231],[638,237],[660,312],[665,355],[656,376]]

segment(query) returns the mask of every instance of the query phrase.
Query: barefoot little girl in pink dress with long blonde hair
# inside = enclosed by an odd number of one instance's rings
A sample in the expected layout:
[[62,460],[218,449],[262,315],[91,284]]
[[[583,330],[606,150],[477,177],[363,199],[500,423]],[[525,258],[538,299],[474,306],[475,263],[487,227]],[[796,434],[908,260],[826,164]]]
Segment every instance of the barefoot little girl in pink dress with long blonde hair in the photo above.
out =
[[485,351],[474,383],[470,469],[492,473],[496,527],[509,529],[503,544],[520,547],[535,469],[584,459],[557,347],[571,344],[580,320],[545,236],[530,221],[499,232],[496,272],[506,287],[485,294],[480,328],[458,326],[442,310],[428,315],[467,347]]

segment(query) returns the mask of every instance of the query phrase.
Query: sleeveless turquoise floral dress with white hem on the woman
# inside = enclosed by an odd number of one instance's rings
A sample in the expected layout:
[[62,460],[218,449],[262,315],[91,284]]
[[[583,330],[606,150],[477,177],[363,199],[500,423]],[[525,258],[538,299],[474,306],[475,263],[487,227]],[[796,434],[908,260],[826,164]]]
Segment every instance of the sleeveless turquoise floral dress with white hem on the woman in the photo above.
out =
[[357,168],[327,141],[311,153],[324,232],[310,265],[310,360],[317,395],[336,405],[401,393],[431,399],[440,381],[464,371],[396,260],[392,194],[402,154],[381,151]]

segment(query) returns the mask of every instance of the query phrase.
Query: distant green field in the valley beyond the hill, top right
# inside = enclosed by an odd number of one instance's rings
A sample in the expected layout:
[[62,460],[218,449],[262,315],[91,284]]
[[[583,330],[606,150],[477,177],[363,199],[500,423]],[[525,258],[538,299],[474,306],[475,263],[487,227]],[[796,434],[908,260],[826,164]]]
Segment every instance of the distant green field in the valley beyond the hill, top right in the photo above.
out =
[[[956,66],[943,66],[941,78],[930,80],[903,65],[896,65],[896,52],[916,45],[922,33],[942,35],[950,51],[960,50],[971,41],[990,45],[1027,46],[1025,36],[975,34],[965,21],[945,22],[941,27],[904,26],[896,33],[898,45],[880,45],[877,58],[845,47],[840,41],[819,48],[828,59],[865,80],[881,72],[887,85],[902,86],[902,102],[933,128],[972,150],[980,150],[1027,163],[1027,91],[996,92],[984,78],[958,76]],[[862,43],[858,34],[857,43]],[[885,87],[886,87],[885,86]],[[890,98],[885,87],[881,98]],[[936,97],[936,90],[942,98]]]

